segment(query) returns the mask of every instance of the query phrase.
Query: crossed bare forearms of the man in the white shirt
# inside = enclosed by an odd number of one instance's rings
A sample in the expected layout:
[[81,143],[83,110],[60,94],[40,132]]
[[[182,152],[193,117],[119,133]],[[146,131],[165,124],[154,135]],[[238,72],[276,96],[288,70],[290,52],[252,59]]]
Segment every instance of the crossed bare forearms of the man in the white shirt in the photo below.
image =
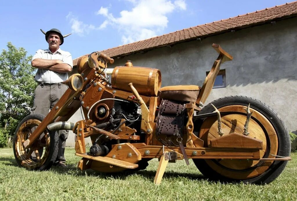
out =
[[59,59],[34,59],[31,65],[39,69],[48,69],[58,73],[69,73],[72,71],[70,65],[63,63]]

